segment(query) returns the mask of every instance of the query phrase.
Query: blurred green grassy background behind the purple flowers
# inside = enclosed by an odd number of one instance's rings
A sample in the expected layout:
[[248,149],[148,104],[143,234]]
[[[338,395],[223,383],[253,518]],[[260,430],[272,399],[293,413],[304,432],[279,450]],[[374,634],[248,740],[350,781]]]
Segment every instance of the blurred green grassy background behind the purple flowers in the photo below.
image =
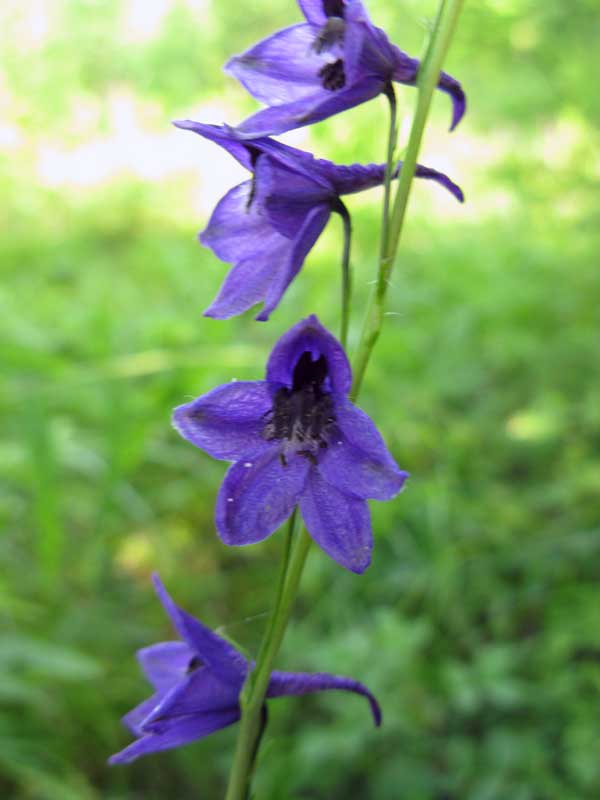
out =
[[[419,54],[433,0],[372,0]],[[219,798],[235,728],[125,768],[147,696],[136,648],[171,638],[149,582],[255,648],[282,540],[227,549],[225,465],[173,406],[258,378],[311,311],[338,322],[333,219],[268,325],[201,311],[227,267],[195,241],[241,170],[171,128],[256,108],[226,58],[299,20],[292,0],[8,0],[0,10],[0,795]],[[412,474],[374,504],[363,577],[316,548],[282,668],[378,695],[271,703],[257,797],[600,797],[600,14],[596,0],[467,2],[421,160],[362,406]],[[399,89],[402,135],[415,93]],[[378,99],[288,138],[381,160]],[[349,198],[352,343],[380,194]]]

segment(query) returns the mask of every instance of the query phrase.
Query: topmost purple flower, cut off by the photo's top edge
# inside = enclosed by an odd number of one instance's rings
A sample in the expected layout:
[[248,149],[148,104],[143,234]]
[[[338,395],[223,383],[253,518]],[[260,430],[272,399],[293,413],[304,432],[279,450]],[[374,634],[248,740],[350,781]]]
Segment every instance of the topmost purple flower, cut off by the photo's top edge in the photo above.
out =
[[[326,119],[386,91],[414,86],[420,62],[391,44],[360,0],[299,0],[306,22],[263,39],[225,69],[268,108],[244,120],[250,137],[283,133]],[[460,83],[440,73],[453,104],[451,130],[465,112]]]

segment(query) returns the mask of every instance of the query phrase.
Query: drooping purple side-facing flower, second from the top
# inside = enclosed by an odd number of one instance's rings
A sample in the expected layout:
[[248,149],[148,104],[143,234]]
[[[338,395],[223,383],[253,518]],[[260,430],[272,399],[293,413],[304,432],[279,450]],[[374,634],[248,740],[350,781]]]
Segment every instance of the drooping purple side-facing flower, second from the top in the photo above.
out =
[[[256,318],[268,319],[331,212],[339,210],[340,197],[384,181],[384,164],[339,166],[266,137],[240,140],[226,126],[191,120],[175,124],[221,145],[252,173],[219,201],[200,234],[203,244],[234,265],[206,310],[208,317],[227,319],[262,300]],[[440,183],[463,200],[460,188],[443,173],[417,165],[416,176]]]

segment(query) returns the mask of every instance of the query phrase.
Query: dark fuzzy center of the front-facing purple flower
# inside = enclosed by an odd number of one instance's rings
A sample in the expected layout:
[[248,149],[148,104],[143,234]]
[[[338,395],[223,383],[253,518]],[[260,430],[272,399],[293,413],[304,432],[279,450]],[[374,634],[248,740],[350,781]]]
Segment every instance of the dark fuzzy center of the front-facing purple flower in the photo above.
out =
[[[302,353],[294,367],[292,388],[277,391],[263,429],[265,439],[287,442],[286,450],[294,450],[313,464],[318,451],[327,447],[327,433],[335,422],[331,395],[323,391],[326,377],[325,356],[313,361],[309,352]],[[283,450],[281,460],[285,466]]]

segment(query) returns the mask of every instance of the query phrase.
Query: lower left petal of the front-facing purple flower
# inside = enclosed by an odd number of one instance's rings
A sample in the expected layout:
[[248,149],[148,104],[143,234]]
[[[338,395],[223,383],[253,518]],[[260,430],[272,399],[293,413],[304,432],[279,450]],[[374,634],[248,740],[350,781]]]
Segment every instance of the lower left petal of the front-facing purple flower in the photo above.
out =
[[298,456],[283,466],[278,446],[254,462],[233,464],[217,497],[215,522],[221,540],[239,546],[270,536],[292,513],[308,468],[308,460]]

